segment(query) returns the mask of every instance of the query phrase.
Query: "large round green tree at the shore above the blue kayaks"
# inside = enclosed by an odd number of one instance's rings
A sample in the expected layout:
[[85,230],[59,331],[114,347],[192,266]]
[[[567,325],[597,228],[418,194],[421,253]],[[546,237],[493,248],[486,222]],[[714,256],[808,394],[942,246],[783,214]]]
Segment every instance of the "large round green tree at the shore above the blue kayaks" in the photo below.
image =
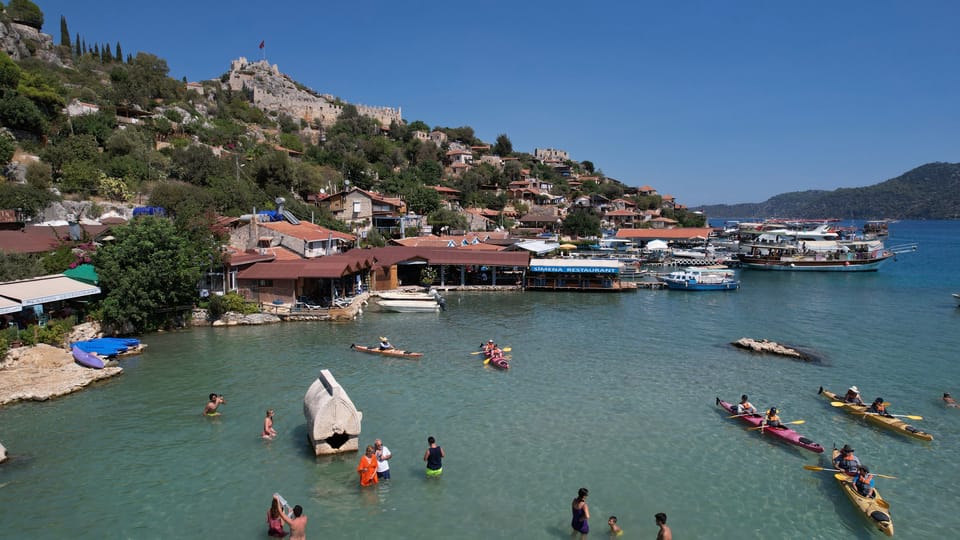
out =
[[170,326],[197,298],[215,253],[190,242],[169,219],[139,217],[114,230],[93,257],[103,289],[103,320],[147,332]]

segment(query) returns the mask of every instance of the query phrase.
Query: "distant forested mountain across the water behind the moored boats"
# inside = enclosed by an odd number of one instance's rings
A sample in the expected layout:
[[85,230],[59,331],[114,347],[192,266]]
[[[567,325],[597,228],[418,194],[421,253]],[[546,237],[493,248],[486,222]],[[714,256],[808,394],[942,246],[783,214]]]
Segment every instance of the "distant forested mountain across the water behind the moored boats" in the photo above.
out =
[[960,219],[960,163],[928,163],[862,188],[795,191],[762,203],[695,210],[709,217]]

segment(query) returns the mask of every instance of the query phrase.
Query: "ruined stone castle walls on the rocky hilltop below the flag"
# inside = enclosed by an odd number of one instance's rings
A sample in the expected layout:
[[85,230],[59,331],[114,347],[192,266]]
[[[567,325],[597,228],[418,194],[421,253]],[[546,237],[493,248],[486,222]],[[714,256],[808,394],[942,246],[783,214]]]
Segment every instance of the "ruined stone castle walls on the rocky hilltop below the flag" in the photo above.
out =
[[[266,60],[250,62],[240,57],[232,61],[226,84],[235,92],[244,88],[251,91],[253,104],[260,109],[285,113],[324,128],[335,124],[343,112],[342,101],[295,83],[280,73],[276,64],[270,65]],[[383,127],[389,127],[391,122],[403,122],[399,107],[354,106],[361,115],[378,120]]]

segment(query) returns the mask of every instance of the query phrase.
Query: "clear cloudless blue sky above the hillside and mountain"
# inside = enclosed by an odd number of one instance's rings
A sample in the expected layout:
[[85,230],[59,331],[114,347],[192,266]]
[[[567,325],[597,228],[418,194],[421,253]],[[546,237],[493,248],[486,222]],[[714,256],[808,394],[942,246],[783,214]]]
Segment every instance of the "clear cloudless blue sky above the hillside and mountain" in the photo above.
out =
[[314,90],[566,150],[678,202],[960,162],[960,2],[35,0],[195,81],[266,58]]

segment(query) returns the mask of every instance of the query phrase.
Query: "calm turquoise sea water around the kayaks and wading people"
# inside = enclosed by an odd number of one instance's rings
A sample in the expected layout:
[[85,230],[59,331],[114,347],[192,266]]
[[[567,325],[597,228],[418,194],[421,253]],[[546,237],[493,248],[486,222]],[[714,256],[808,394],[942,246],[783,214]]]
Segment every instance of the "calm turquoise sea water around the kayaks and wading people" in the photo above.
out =
[[[279,491],[311,537],[569,538],[588,487],[592,537],[619,517],[652,538],[869,538],[827,458],[745,431],[715,405],[750,395],[874,472],[902,538],[960,529],[960,222],[901,222],[916,241],[877,273],[740,273],[730,293],[451,293],[446,312],[367,312],[350,323],[145,336],[125,373],[71,396],[0,409],[3,532],[29,538],[257,538]],[[353,352],[389,336],[419,361]],[[754,356],[743,336],[808,347],[821,364]],[[508,372],[469,353],[495,338]],[[363,411],[361,443],[393,451],[393,479],[361,490],[358,454],[315,458],[303,396],[330,369]],[[918,414],[931,443],[864,425],[817,396],[857,384]],[[223,393],[223,416],[200,411]],[[259,438],[276,409],[276,441]],[[444,475],[424,477],[428,435]]]

